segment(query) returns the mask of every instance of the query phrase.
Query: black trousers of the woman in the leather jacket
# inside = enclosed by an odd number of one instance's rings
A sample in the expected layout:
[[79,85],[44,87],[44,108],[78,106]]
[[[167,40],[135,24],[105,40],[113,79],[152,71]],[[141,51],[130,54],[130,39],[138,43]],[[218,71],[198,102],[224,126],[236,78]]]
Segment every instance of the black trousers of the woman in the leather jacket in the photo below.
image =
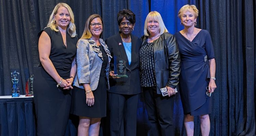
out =
[[174,96],[156,94],[156,86],[143,87],[150,136],[174,136],[173,106]]

